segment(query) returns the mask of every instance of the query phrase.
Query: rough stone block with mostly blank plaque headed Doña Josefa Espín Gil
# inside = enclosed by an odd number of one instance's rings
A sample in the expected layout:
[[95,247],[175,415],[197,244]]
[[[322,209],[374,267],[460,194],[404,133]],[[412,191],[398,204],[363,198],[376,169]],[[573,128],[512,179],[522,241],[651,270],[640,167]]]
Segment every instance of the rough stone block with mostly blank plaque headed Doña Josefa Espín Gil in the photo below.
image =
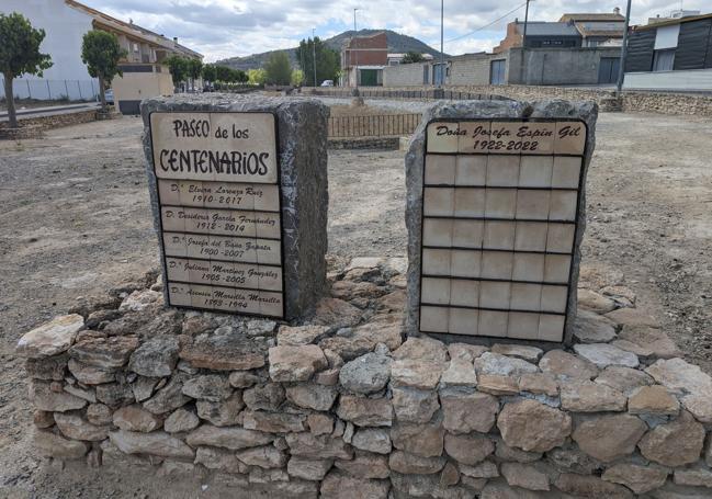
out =
[[595,104],[438,104],[407,156],[411,334],[567,342]]

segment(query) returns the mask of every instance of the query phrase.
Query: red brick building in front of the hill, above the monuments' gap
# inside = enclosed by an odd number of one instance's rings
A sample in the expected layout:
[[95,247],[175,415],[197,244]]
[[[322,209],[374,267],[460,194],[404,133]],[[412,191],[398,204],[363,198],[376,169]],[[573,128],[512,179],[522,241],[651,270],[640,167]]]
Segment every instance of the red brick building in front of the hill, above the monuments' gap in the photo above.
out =
[[341,84],[376,87],[383,84],[383,68],[388,64],[388,42],[384,32],[350,38],[341,49]]

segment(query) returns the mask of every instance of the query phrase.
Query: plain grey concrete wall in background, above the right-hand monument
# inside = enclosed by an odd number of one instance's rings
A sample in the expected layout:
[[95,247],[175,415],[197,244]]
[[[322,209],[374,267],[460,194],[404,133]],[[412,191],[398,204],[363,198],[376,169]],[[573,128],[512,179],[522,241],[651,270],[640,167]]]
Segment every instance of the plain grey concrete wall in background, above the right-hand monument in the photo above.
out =
[[601,57],[619,57],[612,48],[512,48],[509,84],[597,84]]

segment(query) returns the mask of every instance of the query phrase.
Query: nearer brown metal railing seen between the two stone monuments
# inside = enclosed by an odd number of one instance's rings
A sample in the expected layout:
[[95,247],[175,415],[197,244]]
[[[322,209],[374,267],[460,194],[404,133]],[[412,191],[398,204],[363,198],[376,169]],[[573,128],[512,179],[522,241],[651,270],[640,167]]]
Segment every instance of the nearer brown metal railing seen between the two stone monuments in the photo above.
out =
[[329,117],[329,137],[394,137],[412,134],[420,124],[419,113],[364,114]]

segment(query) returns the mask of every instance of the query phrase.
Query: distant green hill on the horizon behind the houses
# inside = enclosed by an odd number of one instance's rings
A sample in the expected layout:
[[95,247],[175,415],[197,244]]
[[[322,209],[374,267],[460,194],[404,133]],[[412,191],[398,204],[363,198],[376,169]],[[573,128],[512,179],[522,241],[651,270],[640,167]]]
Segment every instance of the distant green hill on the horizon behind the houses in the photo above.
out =
[[[433,57],[438,57],[440,55],[439,50],[436,50],[431,46],[426,45],[425,43],[420,42],[418,38],[414,38],[412,36],[408,36],[408,35],[402,35],[391,30],[359,30],[358,36],[370,36],[381,32],[386,33],[386,39],[388,41],[388,52],[392,54],[393,53],[405,54],[406,52],[412,50],[420,54],[430,54]],[[347,42],[347,39],[351,38],[352,36],[353,36],[353,30],[344,31],[341,34],[325,39],[325,43],[330,48],[334,48],[337,52],[341,52],[341,47],[343,46],[343,44]],[[282,50],[263,52],[262,54],[252,54],[251,56],[245,56],[245,57],[230,57],[228,59],[218,60],[216,64],[229,66],[230,68],[241,69],[246,71],[248,69],[261,68],[264,65],[267,58],[270,56],[270,54],[275,52],[282,52]],[[290,57],[290,60],[292,61],[292,65],[297,66],[296,47],[287,48],[286,53]],[[445,57],[448,57],[448,54],[445,54]]]

